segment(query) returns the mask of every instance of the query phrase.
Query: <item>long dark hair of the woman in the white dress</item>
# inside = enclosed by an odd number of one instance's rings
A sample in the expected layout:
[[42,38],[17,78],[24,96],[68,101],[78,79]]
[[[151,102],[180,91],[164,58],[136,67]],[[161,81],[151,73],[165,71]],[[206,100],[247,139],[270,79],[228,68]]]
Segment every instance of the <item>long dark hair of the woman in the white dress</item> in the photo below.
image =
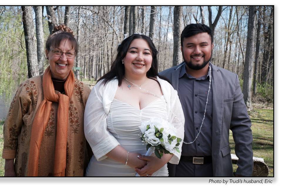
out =
[[[113,61],[111,70],[99,78],[98,81],[103,80],[103,84],[108,83],[113,78],[117,77],[118,86],[122,83],[122,77],[125,74],[124,64],[122,64],[122,59],[125,57],[127,50],[134,39],[143,39],[147,41],[148,45],[152,51],[152,67],[147,71],[146,76],[149,78],[156,78],[158,76],[158,60],[157,60],[157,49],[152,41],[152,39],[146,35],[133,34],[125,38],[122,43],[117,47],[117,56]],[[97,81],[97,82],[98,82]]]

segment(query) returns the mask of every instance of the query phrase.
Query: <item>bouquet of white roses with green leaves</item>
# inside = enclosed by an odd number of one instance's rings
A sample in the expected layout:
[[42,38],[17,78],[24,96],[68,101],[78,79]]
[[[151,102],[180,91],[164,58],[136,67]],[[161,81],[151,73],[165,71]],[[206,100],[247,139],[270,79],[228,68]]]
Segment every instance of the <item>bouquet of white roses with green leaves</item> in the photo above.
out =
[[156,157],[161,158],[164,153],[172,154],[174,150],[180,153],[177,146],[182,139],[175,136],[176,128],[168,121],[152,117],[149,121],[142,122],[139,128],[142,132],[140,139],[147,144],[147,156],[155,152]]

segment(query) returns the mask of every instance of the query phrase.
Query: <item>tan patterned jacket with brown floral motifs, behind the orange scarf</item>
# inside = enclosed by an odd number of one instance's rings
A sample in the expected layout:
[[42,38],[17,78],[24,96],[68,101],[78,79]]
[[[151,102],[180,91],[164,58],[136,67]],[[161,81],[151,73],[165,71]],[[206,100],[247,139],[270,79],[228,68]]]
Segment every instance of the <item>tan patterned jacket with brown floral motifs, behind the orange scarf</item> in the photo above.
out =
[[[31,127],[43,100],[43,76],[22,83],[12,100],[4,124],[4,159],[15,160],[17,176],[26,176],[28,169]],[[58,91],[55,91],[58,92]],[[66,176],[83,176],[89,157],[83,130],[83,115],[90,88],[75,79],[69,103],[69,123],[66,153]],[[51,115],[43,133],[39,154],[38,176],[53,176],[58,103],[52,103]],[[90,156],[91,157],[91,156]]]

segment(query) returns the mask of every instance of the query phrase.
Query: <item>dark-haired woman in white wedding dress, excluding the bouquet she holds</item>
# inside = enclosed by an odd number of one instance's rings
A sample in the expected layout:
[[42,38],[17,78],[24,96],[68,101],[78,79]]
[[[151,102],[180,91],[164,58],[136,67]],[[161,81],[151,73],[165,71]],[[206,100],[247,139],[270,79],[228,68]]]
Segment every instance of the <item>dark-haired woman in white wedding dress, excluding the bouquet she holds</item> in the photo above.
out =
[[169,121],[177,129],[175,136],[184,137],[177,91],[157,75],[152,40],[140,34],[125,38],[111,70],[98,80],[85,106],[84,132],[94,153],[86,176],[168,176],[167,162],[178,164],[177,151],[161,159],[144,156],[146,145],[140,140],[139,126],[151,117]]

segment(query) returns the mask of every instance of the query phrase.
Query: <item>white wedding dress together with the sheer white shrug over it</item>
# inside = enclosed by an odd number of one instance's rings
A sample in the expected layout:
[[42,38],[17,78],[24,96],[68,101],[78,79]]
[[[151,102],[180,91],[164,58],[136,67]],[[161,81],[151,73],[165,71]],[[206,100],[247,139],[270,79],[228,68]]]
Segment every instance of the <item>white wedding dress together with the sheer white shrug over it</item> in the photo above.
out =
[[[177,129],[177,137],[184,137],[184,115],[177,92],[164,80],[158,79],[163,94],[153,100],[145,108],[134,106],[114,98],[117,80],[111,80],[106,85],[98,82],[92,89],[85,106],[84,132],[90,144],[93,156],[86,169],[86,176],[123,177],[135,176],[133,168],[116,162],[106,156],[117,145],[128,152],[138,152],[145,155],[146,145],[141,142],[139,126],[142,121],[152,117],[160,117],[169,121]],[[179,145],[181,151],[182,142]],[[178,164],[181,153],[175,152],[169,161]],[[165,164],[152,176],[168,176]]]

